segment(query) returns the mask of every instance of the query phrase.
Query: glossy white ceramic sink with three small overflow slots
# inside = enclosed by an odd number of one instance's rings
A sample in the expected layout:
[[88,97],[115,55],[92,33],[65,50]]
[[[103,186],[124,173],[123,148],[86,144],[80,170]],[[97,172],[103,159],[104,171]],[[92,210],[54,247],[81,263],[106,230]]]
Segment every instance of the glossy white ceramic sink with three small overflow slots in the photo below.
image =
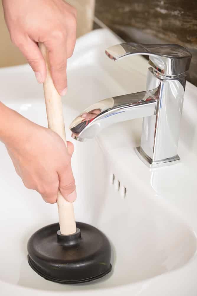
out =
[[[145,90],[143,57],[114,63],[105,56],[105,49],[118,43],[107,29],[78,39],[68,62],[66,127],[100,99]],[[1,69],[0,81],[2,102],[47,126],[43,88],[28,65]],[[29,267],[27,241],[40,227],[58,221],[57,208],[24,187],[0,143],[1,295],[197,295],[196,91],[186,84],[176,165],[149,169],[137,157],[141,119],[110,126],[85,143],[74,141],[66,129],[75,145],[76,220],[104,231],[112,245],[112,272],[89,284],[56,284]]]

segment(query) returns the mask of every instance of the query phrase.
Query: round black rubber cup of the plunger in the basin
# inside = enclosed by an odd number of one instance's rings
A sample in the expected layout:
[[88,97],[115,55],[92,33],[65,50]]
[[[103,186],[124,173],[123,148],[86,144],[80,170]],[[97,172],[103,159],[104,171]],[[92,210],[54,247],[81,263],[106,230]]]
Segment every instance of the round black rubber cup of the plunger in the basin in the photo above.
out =
[[76,233],[61,235],[55,223],[30,237],[28,262],[35,272],[50,281],[77,284],[111,271],[111,247],[105,234],[86,223],[76,222],[76,227]]

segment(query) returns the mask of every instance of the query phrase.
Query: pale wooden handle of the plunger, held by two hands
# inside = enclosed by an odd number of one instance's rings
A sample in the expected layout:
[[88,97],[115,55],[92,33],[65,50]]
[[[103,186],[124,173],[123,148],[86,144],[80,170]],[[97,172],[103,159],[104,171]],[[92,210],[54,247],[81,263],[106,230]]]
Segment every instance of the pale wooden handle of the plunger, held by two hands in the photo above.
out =
[[[53,80],[51,78],[47,49],[43,43],[39,43],[39,48],[43,54],[47,68],[46,80],[43,83],[43,87],[45,94],[48,127],[55,131],[59,136],[61,136],[67,147],[61,96],[56,91]],[[59,190],[57,196],[57,204],[61,234],[75,233],[76,223],[74,218],[73,203],[67,202],[61,195]]]

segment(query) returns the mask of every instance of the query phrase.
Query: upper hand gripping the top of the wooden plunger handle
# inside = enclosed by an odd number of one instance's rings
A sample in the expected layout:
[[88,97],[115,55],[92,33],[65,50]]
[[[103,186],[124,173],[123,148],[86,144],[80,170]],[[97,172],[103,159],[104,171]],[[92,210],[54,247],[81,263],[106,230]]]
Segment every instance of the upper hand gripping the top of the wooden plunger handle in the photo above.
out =
[[21,50],[39,83],[46,78],[45,60],[38,47],[48,49],[53,83],[60,95],[67,91],[66,59],[76,41],[76,10],[64,0],[2,0],[12,42]]

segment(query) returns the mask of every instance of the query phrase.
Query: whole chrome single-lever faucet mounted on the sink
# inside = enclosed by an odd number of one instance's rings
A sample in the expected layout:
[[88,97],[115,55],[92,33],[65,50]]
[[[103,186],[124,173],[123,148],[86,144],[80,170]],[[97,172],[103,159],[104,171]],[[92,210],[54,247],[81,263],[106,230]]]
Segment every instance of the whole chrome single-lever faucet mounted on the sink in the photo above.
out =
[[93,104],[70,125],[72,137],[85,141],[113,123],[143,118],[136,152],[147,165],[176,163],[186,71],[191,53],[178,44],[122,43],[108,48],[110,59],[149,55],[146,91],[115,96]]

